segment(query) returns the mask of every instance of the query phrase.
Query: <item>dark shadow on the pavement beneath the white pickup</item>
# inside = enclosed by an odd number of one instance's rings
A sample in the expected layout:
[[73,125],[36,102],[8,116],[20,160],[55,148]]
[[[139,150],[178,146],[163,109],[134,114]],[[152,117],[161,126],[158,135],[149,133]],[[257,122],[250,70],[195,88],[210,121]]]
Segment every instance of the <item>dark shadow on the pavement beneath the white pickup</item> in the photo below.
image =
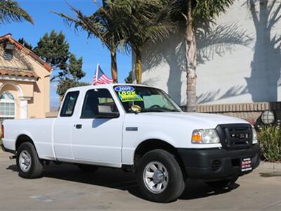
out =
[[[7,170],[18,172],[16,165],[10,165]],[[62,179],[65,181],[74,181],[83,184],[90,184],[95,186],[104,186],[108,188],[115,188],[123,191],[128,191],[133,196],[143,198],[138,189],[136,181],[136,175],[131,172],[124,172],[123,170],[114,168],[100,167],[94,173],[81,172],[78,167],[70,164],[63,165],[48,165],[44,167],[42,177],[48,177],[53,179]],[[195,198],[204,198],[208,196],[214,196],[222,193],[227,193],[233,189],[239,187],[239,184],[234,184],[230,188],[212,188],[207,186],[202,181],[187,180],[185,191],[180,199],[190,200]]]

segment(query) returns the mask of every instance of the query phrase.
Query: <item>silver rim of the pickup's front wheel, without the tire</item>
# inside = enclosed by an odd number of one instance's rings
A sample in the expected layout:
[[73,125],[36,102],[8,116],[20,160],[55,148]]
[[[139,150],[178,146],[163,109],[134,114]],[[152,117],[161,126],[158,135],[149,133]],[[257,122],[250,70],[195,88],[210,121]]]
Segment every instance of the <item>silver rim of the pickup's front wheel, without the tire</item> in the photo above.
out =
[[162,193],[168,186],[169,174],[161,162],[153,161],[145,166],[143,181],[150,192]]

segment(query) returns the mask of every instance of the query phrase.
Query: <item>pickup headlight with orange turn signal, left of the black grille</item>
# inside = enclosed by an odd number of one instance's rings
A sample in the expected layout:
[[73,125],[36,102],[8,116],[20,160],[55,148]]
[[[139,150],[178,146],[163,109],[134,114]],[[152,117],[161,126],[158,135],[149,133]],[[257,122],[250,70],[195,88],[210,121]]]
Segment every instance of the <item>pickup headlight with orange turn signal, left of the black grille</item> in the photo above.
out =
[[191,141],[192,143],[220,143],[216,129],[195,129]]

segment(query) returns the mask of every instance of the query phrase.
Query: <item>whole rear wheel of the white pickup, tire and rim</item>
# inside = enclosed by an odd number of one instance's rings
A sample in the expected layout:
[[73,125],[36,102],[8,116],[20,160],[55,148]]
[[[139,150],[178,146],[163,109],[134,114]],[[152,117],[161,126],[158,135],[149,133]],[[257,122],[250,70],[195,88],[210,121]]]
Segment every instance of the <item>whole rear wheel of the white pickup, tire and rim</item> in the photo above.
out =
[[20,145],[16,160],[20,177],[32,179],[41,176],[43,162],[38,158],[32,143],[25,142]]

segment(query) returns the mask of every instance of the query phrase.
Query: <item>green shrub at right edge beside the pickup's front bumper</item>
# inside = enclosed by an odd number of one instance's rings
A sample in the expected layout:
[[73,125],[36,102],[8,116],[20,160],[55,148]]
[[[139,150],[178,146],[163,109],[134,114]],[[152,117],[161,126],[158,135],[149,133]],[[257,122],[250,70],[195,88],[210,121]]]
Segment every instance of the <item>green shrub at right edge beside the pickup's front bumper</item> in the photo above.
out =
[[261,159],[270,162],[281,161],[281,129],[280,127],[264,126],[258,134],[261,146]]

